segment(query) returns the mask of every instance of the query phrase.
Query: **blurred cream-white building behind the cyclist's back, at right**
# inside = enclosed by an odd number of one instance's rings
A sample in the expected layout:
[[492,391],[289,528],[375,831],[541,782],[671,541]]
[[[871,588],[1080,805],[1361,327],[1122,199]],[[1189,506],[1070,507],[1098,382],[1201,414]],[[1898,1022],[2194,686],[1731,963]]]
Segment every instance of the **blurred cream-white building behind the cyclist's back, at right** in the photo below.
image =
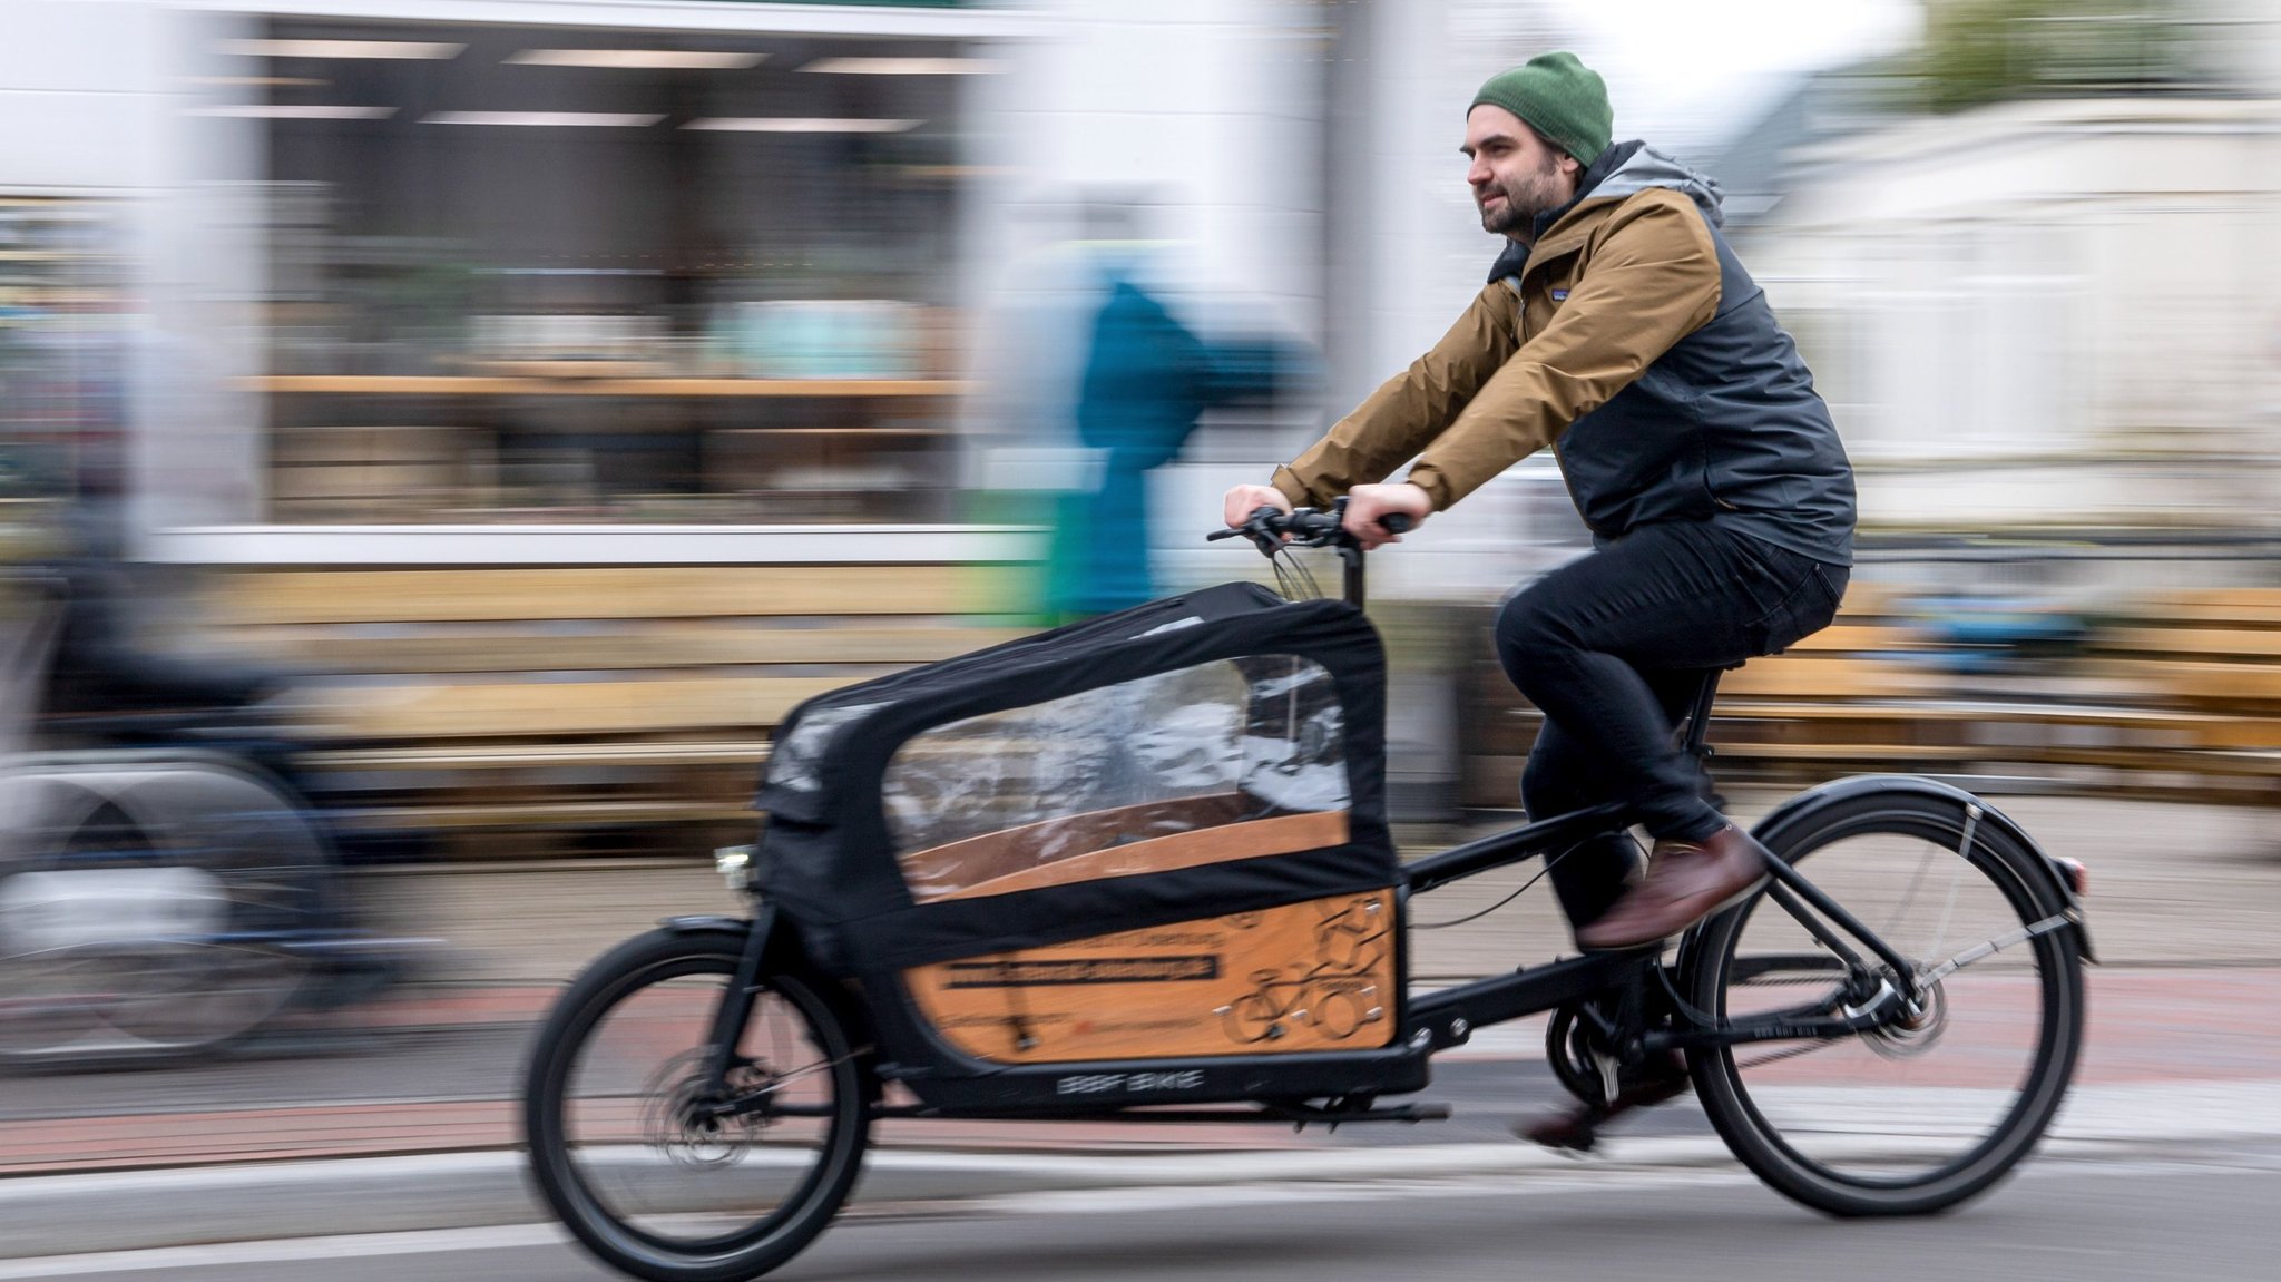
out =
[[2274,98],[2046,98],[1811,146],[1747,246],[1864,520],[2272,534],[2274,226]]

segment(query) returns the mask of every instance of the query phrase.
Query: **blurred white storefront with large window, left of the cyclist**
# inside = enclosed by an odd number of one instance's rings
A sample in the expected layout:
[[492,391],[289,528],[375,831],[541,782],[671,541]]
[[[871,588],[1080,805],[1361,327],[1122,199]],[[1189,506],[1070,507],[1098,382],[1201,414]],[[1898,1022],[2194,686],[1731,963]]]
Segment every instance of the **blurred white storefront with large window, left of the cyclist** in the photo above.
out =
[[[958,490],[1015,214],[1156,187],[1198,278],[1314,338],[1318,9],[0,0],[0,194],[52,214],[0,251],[107,219],[71,310],[132,317],[151,557],[1020,559]],[[62,315],[59,269],[0,306]],[[9,438],[57,413],[25,388]]]

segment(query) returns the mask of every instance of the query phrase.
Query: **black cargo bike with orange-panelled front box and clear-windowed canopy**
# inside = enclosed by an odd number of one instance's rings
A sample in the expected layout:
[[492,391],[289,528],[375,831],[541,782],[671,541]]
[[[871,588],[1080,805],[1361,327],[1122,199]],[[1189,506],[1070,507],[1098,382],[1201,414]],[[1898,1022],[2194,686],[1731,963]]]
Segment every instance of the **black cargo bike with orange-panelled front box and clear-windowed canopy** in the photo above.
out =
[[[1435,1052],[1535,1013],[1583,1100],[1681,1054],[1734,1154],[1825,1214],[1939,1211],[2037,1143],[2083,1038],[2080,867],[1925,778],[1775,808],[1770,883],[1677,947],[1412,988],[1428,892],[1631,814],[1398,860],[1362,550],[1337,511],[1239,534],[1337,547],[1344,600],[1223,584],[787,719],[760,839],[719,855],[750,915],[620,944],[538,1033],[531,1168],[586,1248],[766,1273],[901,1118],[1435,1120],[1396,1100]],[[1677,730],[1695,753],[1713,691]]]

